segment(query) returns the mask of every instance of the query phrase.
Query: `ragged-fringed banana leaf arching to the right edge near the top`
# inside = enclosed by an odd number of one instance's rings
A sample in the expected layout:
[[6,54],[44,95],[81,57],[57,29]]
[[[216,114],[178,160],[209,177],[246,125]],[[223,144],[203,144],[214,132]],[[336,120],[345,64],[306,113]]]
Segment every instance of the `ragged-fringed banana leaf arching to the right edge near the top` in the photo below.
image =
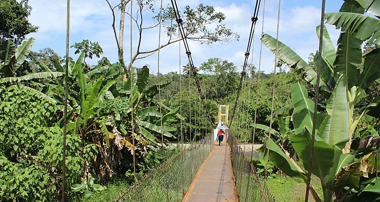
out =
[[327,23],[343,28],[349,34],[369,43],[380,45],[380,20],[359,13],[326,13]]

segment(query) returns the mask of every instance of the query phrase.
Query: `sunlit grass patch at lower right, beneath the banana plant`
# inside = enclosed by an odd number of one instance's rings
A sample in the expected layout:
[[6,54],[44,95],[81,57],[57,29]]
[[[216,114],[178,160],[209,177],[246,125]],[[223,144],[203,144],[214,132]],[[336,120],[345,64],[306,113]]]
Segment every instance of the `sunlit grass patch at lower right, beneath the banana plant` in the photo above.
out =
[[[306,183],[302,179],[274,174],[267,179],[268,187],[277,202],[304,202]],[[322,188],[317,177],[312,176],[311,185],[322,197]],[[314,199],[309,194],[309,201]]]

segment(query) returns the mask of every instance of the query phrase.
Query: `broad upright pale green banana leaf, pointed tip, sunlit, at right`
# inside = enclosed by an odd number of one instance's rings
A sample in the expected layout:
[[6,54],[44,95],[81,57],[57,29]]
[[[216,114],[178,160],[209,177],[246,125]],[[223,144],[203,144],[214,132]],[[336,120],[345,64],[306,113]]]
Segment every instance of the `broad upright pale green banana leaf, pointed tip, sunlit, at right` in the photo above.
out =
[[341,75],[326,105],[327,116],[318,129],[318,136],[331,146],[344,148],[349,140],[347,80]]

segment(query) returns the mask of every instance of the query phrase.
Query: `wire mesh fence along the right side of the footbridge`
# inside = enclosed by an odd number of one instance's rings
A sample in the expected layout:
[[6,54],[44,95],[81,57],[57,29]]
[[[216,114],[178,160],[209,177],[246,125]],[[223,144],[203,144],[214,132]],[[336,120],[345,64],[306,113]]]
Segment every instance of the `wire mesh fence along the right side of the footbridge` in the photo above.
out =
[[274,202],[266,181],[259,176],[249,158],[245,157],[234,135],[229,135],[232,169],[239,202]]

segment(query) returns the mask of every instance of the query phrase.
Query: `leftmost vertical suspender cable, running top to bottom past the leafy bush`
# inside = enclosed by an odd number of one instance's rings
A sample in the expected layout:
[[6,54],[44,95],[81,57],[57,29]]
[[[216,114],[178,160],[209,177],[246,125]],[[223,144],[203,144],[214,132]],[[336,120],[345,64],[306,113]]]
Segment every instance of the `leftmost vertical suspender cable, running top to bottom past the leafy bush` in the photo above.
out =
[[67,97],[69,80],[69,39],[70,39],[70,0],[67,0],[66,18],[66,66],[65,66],[65,107],[63,111],[63,160],[62,160],[62,202],[65,202],[65,183],[66,183],[66,135],[67,135]]

